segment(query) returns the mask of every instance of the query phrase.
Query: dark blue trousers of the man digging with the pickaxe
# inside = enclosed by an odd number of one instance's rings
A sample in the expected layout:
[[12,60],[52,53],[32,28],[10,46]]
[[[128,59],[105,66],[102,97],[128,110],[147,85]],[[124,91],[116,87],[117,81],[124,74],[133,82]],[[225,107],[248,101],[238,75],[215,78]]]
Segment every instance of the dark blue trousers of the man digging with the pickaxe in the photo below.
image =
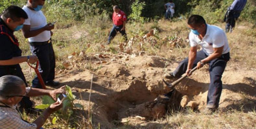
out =
[[[200,60],[206,58],[207,55],[203,50],[198,51],[196,54],[196,59],[193,63],[193,67],[196,67]],[[227,61],[230,59],[229,53],[221,55],[219,58],[213,59],[209,62],[209,72],[210,72],[210,85],[207,95],[207,107],[208,108],[218,108],[220,95],[222,91],[222,81],[221,77],[225,70]],[[173,72],[175,77],[180,77],[187,70],[188,58],[182,60],[176,70]]]

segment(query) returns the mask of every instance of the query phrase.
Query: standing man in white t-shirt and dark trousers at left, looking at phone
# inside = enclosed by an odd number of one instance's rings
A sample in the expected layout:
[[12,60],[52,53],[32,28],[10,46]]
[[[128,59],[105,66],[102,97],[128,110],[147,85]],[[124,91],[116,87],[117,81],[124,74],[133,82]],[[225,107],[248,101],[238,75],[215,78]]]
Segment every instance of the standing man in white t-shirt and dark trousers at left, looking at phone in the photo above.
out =
[[[58,82],[53,81],[55,77],[55,55],[52,48],[51,36],[53,24],[47,24],[41,8],[45,0],[28,0],[23,10],[28,14],[22,28],[25,38],[29,38],[30,50],[39,59],[39,71],[46,85],[57,86]],[[42,88],[38,77],[32,81],[32,87]]]

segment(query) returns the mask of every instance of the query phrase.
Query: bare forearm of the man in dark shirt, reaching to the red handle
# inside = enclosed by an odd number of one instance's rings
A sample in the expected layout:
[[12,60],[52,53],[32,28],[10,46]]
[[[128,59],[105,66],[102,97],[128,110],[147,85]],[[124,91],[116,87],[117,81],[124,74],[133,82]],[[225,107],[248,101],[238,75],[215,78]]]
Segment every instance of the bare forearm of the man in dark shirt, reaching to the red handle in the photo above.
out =
[[9,60],[1,60],[0,65],[15,65],[22,62],[26,62],[27,60],[28,60],[27,56],[18,56],[18,57],[13,57]]

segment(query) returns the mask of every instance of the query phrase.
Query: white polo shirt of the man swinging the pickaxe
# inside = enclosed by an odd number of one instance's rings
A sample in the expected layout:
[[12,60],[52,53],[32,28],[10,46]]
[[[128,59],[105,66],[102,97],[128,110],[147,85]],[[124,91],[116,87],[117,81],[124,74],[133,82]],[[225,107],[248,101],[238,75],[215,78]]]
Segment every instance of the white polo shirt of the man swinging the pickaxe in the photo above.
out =
[[199,39],[198,35],[190,32],[189,41],[190,46],[201,45],[206,55],[211,55],[214,52],[213,48],[222,46],[224,46],[222,54],[226,54],[230,50],[226,33],[220,27],[215,25],[207,24],[206,34],[202,41]]

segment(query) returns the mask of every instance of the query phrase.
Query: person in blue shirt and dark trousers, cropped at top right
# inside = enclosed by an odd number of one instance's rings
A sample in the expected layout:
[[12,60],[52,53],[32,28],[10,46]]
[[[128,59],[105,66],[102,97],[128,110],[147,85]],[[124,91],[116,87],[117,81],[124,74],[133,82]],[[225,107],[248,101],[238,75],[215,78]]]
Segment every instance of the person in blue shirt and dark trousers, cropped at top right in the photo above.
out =
[[226,21],[226,32],[232,33],[236,20],[244,9],[247,0],[234,0],[231,6],[228,7],[224,21]]

